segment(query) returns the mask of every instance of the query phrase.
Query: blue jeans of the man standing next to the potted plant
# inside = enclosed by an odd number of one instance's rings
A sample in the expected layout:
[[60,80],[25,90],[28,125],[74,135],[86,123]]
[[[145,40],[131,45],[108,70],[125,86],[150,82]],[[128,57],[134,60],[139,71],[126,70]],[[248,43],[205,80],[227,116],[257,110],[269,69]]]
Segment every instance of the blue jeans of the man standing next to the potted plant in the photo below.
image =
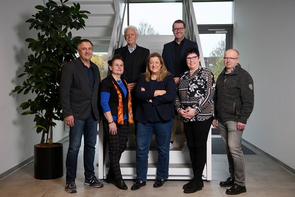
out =
[[84,175],[85,178],[94,176],[94,154],[97,137],[98,121],[90,110],[86,120],[74,120],[74,127],[70,127],[69,148],[66,155],[66,182],[74,182],[77,173],[77,159],[84,134]]

